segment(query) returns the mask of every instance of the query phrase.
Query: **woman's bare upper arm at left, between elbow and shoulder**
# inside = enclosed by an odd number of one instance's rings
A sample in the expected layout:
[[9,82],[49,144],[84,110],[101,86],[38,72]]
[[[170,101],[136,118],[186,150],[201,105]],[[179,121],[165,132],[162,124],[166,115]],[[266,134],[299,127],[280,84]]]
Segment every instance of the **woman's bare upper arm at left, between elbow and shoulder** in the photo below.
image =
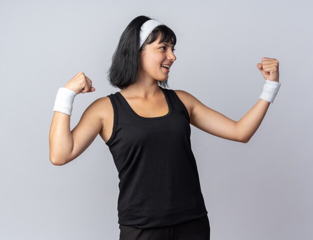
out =
[[79,156],[95,139],[103,127],[101,98],[93,101],[82,113],[77,125],[71,130],[73,148],[70,160]]

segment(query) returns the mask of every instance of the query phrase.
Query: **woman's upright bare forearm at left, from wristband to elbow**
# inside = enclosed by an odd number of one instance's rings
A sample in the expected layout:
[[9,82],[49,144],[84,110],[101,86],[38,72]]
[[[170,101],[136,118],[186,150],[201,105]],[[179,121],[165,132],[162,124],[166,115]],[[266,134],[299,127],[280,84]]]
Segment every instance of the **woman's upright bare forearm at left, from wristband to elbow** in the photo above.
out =
[[73,137],[69,123],[69,115],[54,111],[49,132],[49,154],[50,161],[55,165],[62,165],[71,154]]

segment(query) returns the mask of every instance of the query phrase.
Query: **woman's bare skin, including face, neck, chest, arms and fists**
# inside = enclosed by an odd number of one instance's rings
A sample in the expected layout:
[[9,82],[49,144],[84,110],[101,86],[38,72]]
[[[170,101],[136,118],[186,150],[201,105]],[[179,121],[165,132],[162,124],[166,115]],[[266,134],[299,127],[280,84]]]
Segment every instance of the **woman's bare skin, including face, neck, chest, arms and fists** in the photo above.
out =
[[[176,60],[173,46],[158,44],[160,36],[141,52],[141,68],[137,82],[119,92],[127,100],[130,107],[140,116],[162,116],[168,112],[164,94],[158,87],[157,80],[168,78],[168,71],[161,64],[172,64]],[[278,81],[278,61],[275,58],[263,57],[257,63],[264,78]],[[80,86],[73,78],[64,87],[76,92],[91,92],[91,80],[83,72]],[[77,76],[76,74],[76,76]],[[83,88],[84,90],[81,90]],[[174,90],[187,108],[190,124],[224,139],[246,143],[260,125],[269,102],[259,98],[255,105],[238,121],[209,108],[190,93],[184,90]],[[106,142],[112,133],[113,107],[107,96],[93,101],[83,112],[77,125],[70,131],[70,116],[54,112],[50,134],[50,161],[54,165],[63,165],[79,156],[95,139],[97,134]]]

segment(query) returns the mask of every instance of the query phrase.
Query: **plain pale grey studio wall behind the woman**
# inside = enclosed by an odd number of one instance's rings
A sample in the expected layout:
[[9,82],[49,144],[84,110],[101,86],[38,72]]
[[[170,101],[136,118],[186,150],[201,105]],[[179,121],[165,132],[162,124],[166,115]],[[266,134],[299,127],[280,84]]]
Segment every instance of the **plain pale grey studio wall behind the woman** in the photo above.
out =
[[71,129],[95,99],[119,91],[106,71],[138,15],[177,36],[168,84],[239,120],[279,61],[281,86],[249,142],[191,126],[211,239],[313,239],[312,10],[303,1],[0,1],[0,239],[118,239],[118,176],[100,136],[75,160],[49,161],[57,89],[83,71]]

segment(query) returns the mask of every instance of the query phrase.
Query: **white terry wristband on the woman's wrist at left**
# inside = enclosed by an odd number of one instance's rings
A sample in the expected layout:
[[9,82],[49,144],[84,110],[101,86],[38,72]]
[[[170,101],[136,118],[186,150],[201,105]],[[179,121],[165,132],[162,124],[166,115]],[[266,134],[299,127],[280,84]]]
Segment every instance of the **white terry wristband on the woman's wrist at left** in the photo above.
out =
[[60,87],[57,90],[53,111],[59,111],[67,115],[71,115],[71,110],[73,108],[74,97],[77,95],[73,90]]

